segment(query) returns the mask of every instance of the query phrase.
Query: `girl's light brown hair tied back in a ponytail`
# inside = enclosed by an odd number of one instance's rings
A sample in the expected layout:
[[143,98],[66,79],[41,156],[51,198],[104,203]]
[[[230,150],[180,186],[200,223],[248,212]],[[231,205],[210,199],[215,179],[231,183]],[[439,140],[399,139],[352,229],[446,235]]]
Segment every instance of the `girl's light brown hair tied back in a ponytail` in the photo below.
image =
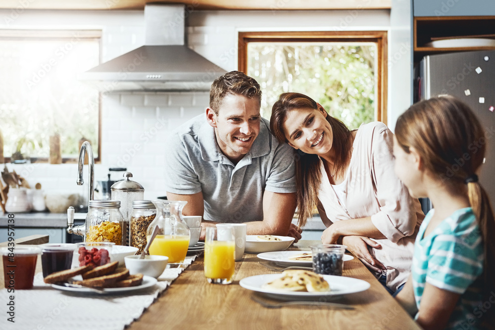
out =
[[[398,119],[396,139],[408,153],[414,146],[424,166],[442,184],[465,183],[483,163],[486,137],[483,127],[468,105],[452,96],[433,97],[413,104]],[[494,292],[495,233],[494,212],[488,195],[478,182],[468,182],[468,197],[479,222],[485,253],[484,299]],[[484,300],[486,301],[486,300]],[[492,312],[485,313],[495,314]],[[493,317],[493,316],[492,316]]]

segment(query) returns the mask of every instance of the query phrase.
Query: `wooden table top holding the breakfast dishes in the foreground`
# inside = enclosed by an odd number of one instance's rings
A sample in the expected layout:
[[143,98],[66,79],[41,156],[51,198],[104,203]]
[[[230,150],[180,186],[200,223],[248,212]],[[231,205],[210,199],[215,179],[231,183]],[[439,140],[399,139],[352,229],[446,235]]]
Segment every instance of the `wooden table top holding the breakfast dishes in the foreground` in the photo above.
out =
[[[300,241],[290,249],[308,250],[308,246],[315,243],[318,242]],[[254,292],[239,285],[239,281],[248,276],[276,273],[259,261],[255,254],[246,253],[242,261],[236,262],[234,282],[220,285],[206,282],[203,257],[199,256],[128,329],[420,329],[356,258],[345,262],[344,276],[367,281],[371,287],[332,300],[352,305],[354,310],[262,307],[250,299]],[[37,272],[41,272],[40,260]],[[3,272],[0,281],[3,288]]]

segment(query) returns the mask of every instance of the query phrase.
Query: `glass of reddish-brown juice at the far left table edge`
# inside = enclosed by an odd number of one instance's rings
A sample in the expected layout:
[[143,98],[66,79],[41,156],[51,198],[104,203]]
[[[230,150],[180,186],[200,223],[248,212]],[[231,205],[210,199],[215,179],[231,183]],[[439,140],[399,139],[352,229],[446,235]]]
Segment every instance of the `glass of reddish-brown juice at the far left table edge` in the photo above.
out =
[[5,288],[14,290],[33,288],[36,259],[41,254],[41,249],[36,246],[15,245],[2,247],[0,253]]

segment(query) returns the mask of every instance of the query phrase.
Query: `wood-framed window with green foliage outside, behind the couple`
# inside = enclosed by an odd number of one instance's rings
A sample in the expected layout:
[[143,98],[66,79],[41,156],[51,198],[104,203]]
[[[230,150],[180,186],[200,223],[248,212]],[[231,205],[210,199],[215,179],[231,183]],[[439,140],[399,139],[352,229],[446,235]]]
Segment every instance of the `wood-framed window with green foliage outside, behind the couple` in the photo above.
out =
[[242,32],[239,39],[239,69],[261,85],[263,117],[279,94],[297,92],[349,129],[386,123],[386,32]]

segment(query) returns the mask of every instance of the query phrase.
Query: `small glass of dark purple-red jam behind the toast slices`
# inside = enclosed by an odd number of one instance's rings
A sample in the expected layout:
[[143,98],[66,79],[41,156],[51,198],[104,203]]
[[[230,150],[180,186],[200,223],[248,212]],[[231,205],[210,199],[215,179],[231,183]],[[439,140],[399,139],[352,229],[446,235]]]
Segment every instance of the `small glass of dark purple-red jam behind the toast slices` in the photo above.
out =
[[41,255],[41,265],[43,267],[43,277],[51,273],[70,269],[72,265],[72,255],[76,244],[43,244],[40,245],[43,254]]

